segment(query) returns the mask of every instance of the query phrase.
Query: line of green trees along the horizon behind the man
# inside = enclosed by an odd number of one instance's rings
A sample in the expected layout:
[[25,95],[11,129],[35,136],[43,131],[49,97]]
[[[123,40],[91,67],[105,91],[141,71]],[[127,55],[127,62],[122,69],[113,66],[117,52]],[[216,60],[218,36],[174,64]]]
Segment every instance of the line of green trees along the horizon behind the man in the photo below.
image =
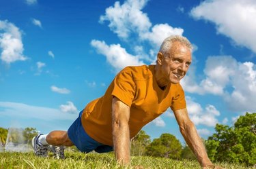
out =
[[[231,162],[253,166],[256,164],[256,113],[240,116],[233,126],[216,124],[215,133],[204,140],[208,156],[212,162]],[[18,134],[19,133],[19,134]],[[35,128],[12,129],[10,139],[20,143],[31,144],[33,136],[38,134]],[[8,130],[0,128],[0,140],[4,145]],[[190,148],[182,147],[180,140],[172,134],[162,134],[160,138],[150,140],[150,136],[141,130],[131,140],[131,155],[149,155],[173,159],[196,159]]]

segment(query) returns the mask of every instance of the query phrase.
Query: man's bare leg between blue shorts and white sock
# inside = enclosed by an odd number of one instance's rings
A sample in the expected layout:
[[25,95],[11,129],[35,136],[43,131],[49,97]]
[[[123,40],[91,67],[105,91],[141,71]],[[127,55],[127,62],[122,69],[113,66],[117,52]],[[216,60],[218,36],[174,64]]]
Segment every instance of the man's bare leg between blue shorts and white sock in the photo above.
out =
[[70,138],[68,137],[68,132],[66,131],[61,131],[61,130],[55,130],[53,132],[50,132],[46,136],[46,141],[49,145],[63,145],[70,147],[74,145]]

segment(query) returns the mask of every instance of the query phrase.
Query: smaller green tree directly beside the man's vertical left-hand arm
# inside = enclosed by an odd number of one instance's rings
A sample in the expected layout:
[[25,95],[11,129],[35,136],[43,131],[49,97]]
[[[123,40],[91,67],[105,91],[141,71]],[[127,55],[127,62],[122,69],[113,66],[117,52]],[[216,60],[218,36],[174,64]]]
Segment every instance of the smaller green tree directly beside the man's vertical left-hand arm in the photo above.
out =
[[131,154],[145,155],[147,145],[150,145],[150,136],[145,131],[141,130],[131,140]]

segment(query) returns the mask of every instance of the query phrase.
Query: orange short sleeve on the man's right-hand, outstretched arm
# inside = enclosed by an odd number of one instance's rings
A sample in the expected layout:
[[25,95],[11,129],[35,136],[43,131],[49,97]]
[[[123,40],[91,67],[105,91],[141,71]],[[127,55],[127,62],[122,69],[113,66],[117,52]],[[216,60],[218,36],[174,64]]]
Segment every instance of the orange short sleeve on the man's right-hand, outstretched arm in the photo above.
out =
[[179,109],[185,109],[186,99],[182,86],[180,86],[180,84],[177,84],[177,88],[175,90],[175,95],[173,96],[173,100],[171,101],[171,110],[176,111]]

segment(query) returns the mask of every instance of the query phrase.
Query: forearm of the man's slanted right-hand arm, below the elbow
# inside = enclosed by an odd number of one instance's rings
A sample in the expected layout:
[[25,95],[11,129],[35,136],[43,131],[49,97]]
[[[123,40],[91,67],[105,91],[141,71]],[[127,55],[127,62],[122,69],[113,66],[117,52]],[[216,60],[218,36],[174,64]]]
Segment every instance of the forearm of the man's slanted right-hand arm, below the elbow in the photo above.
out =
[[185,124],[184,128],[180,128],[186,143],[192,149],[193,153],[197,157],[198,162],[201,166],[210,166],[212,162],[208,158],[205,147],[199,135],[197,134],[197,130],[193,123]]

